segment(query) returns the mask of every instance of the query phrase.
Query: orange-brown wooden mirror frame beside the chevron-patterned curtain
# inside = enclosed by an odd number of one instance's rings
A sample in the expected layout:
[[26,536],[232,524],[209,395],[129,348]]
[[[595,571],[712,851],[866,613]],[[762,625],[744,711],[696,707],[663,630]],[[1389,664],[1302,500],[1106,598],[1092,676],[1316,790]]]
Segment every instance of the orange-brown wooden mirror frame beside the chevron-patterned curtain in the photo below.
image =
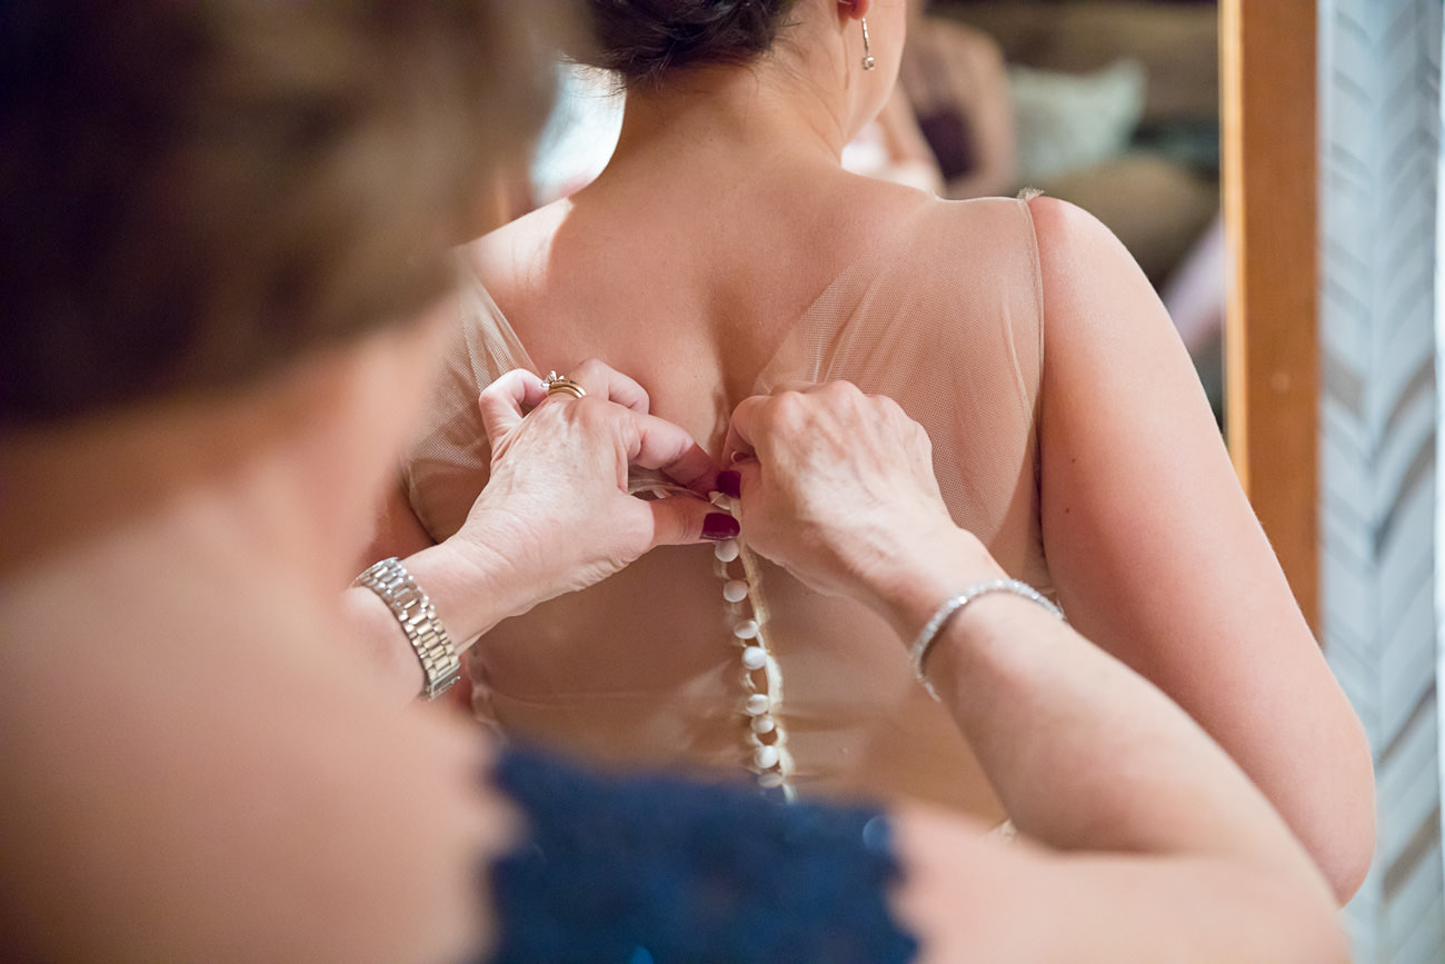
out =
[[1319,634],[1318,3],[1221,0],[1225,426]]

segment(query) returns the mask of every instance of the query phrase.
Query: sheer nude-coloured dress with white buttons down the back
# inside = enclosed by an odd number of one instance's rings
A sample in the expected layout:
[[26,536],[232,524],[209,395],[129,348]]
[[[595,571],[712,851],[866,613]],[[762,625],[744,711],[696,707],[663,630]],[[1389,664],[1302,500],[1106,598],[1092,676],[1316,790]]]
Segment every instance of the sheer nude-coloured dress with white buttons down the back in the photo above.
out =
[[[928,429],[955,522],[1012,575],[1051,593],[1035,431],[1040,299],[1025,201],[929,201],[790,322],[754,389],[847,379],[896,399]],[[461,322],[405,467],[410,503],[438,541],[461,526],[486,478],[478,392],[510,369],[536,371],[474,276]],[[603,763],[757,773],[743,643],[733,633],[749,613],[722,600],[718,568],[711,545],[659,548],[590,590],[499,624],[470,659],[478,715]],[[766,562],[757,574],[780,682],[770,700],[780,697],[775,711],[798,793],[905,793],[1001,815],[952,720],[913,679],[906,645],[880,617]]]

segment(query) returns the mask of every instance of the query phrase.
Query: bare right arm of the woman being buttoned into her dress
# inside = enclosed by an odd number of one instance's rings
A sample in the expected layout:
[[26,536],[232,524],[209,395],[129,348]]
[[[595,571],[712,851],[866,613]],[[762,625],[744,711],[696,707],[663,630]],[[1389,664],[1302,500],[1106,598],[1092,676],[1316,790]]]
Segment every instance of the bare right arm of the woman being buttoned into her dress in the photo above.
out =
[[1123,246],[1032,204],[1043,277],[1040,515],[1069,620],[1189,711],[1341,895],[1373,850],[1368,750]]

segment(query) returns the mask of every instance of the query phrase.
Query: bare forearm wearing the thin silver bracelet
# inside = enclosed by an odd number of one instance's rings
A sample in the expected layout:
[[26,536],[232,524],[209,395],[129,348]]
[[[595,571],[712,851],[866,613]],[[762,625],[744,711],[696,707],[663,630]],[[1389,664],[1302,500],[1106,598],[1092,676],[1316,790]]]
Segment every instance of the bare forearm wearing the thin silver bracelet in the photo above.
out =
[[[893,572],[880,597],[905,639],[949,594],[996,578],[967,541],[915,558],[926,562]],[[939,575],[949,569],[961,577]],[[1221,856],[1324,887],[1182,710],[1042,607],[980,597],[944,626],[926,671],[1027,835],[1064,850]]]

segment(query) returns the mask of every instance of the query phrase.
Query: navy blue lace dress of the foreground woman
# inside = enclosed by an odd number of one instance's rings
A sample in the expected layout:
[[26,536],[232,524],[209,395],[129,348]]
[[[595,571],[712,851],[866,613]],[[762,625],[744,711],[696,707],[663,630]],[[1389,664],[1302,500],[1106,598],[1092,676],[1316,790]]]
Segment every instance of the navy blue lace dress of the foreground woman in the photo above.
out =
[[598,776],[510,750],[490,775],[530,835],[491,867],[493,961],[887,964],[918,951],[889,915],[877,809]]

